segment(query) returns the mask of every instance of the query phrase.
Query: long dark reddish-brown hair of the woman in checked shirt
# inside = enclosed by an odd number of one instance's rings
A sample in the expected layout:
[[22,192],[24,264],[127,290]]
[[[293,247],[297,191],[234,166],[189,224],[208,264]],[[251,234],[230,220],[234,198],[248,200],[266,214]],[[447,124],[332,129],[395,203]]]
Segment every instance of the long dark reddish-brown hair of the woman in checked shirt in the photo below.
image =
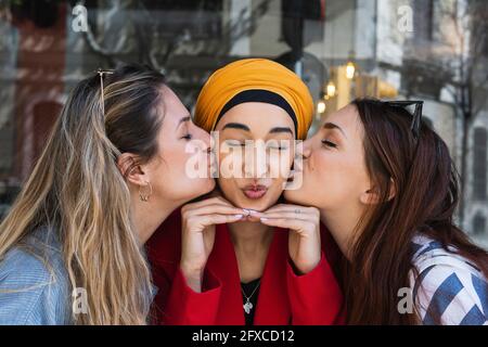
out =
[[[458,172],[449,150],[425,123],[416,141],[412,115],[377,100],[356,100],[364,127],[364,157],[380,203],[357,226],[351,259],[344,272],[350,324],[415,324],[413,313],[398,311],[398,291],[410,287],[415,271],[411,241],[423,233],[454,246],[488,274],[488,254],[453,222],[459,197]],[[391,191],[395,194],[391,197]]]

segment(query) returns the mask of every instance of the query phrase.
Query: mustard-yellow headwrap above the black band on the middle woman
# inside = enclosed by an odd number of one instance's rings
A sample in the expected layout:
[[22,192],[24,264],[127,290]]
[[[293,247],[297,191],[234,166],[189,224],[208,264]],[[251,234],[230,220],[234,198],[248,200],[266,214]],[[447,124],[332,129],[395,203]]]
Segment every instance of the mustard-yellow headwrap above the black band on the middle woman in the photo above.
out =
[[282,97],[296,116],[297,139],[307,137],[313,101],[307,86],[292,70],[267,59],[244,59],[216,70],[196,101],[195,124],[211,131],[226,104],[247,90],[266,90]]

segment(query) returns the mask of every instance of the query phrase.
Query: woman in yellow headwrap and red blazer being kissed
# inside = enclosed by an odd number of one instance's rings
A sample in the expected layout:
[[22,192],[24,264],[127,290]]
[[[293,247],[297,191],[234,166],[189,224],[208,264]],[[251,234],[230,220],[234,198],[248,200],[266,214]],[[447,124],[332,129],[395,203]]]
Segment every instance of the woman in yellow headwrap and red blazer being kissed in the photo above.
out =
[[329,265],[335,244],[319,211],[277,205],[312,111],[301,80],[267,60],[239,61],[209,78],[195,123],[218,133],[220,196],[183,206],[150,241],[157,322],[341,322]]

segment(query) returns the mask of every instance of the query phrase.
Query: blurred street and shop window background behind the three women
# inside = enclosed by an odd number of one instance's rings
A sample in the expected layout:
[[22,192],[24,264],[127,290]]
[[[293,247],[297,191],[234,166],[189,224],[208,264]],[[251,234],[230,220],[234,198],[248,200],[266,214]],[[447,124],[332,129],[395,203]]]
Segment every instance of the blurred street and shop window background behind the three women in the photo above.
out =
[[488,248],[486,0],[0,0],[0,219],[81,78],[150,64],[193,110],[248,56],[305,80],[310,132],[357,97],[425,100],[462,177],[457,221]]

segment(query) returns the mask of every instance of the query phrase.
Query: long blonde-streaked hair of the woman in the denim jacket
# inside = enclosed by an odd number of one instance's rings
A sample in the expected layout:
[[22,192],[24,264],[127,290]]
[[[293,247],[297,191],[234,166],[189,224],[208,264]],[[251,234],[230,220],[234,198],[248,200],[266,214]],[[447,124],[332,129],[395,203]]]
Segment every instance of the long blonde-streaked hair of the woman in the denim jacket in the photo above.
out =
[[126,65],[79,82],[70,93],[34,171],[0,224],[0,260],[36,229],[55,230],[70,288],[87,293],[88,313],[75,324],[145,324],[151,271],[130,219],[129,188],[117,166],[157,153],[164,76]]

